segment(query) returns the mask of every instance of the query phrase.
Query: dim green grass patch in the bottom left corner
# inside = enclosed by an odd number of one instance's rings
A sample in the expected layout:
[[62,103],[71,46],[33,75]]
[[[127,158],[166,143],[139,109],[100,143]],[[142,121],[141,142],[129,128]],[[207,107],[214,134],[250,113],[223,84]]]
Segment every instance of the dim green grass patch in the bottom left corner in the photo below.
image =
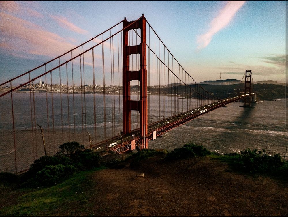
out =
[[93,197],[90,176],[94,171],[79,172],[65,182],[49,188],[24,189],[24,194],[16,199],[15,205],[8,205],[0,210],[0,216],[94,215],[90,211],[93,200],[89,200]]

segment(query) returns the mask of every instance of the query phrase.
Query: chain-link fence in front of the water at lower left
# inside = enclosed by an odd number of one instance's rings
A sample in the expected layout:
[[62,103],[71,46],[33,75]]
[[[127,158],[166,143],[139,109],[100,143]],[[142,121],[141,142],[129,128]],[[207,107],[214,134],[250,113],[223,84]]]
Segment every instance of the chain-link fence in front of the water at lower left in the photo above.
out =
[[[69,141],[76,141],[85,148],[90,148],[89,135],[42,129],[46,153],[48,156],[60,151],[59,146]],[[103,141],[102,136],[90,136],[92,145]],[[0,172],[19,174],[27,169],[34,160],[45,155],[40,128],[0,132]]]

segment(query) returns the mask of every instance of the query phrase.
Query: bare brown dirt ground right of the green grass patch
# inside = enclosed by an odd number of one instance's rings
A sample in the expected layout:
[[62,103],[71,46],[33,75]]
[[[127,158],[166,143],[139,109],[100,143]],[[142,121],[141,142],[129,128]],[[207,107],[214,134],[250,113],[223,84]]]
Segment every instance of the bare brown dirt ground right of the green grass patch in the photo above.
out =
[[288,214],[287,183],[234,172],[210,157],[167,163],[160,155],[96,171],[91,179],[96,216]]

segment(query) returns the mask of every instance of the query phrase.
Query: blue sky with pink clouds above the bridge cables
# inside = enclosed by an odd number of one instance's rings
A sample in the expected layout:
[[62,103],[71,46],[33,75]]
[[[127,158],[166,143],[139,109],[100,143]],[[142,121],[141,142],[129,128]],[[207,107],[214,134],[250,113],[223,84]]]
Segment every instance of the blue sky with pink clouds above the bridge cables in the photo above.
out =
[[0,10],[0,83],[142,14],[197,82],[250,69],[253,81],[285,81],[285,1],[0,1]]

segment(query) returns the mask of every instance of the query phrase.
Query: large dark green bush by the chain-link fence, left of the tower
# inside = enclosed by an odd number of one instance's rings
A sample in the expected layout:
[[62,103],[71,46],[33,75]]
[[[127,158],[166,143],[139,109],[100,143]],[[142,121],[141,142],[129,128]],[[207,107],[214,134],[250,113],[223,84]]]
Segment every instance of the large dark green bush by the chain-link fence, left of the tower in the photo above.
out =
[[100,167],[100,156],[84,150],[77,142],[63,143],[54,156],[43,156],[31,164],[22,176],[22,186],[50,186],[63,181],[77,170]]

